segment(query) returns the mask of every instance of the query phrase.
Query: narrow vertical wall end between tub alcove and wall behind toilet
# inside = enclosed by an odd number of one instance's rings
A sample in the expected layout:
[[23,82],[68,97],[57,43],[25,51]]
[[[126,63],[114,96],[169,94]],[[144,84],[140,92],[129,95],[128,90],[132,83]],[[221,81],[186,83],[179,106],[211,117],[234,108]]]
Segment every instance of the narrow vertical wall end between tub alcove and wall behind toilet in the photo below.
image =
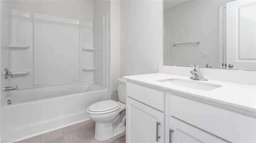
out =
[[116,79],[120,77],[120,0],[110,1],[109,99],[118,100]]

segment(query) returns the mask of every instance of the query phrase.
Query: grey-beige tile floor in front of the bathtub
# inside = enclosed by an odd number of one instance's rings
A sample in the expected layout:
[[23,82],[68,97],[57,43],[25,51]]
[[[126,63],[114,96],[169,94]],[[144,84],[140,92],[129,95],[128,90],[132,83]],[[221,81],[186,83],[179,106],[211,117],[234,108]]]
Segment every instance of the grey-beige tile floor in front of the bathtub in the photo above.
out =
[[96,141],[94,139],[94,129],[95,122],[87,120],[17,143],[125,143],[125,132],[107,141]]

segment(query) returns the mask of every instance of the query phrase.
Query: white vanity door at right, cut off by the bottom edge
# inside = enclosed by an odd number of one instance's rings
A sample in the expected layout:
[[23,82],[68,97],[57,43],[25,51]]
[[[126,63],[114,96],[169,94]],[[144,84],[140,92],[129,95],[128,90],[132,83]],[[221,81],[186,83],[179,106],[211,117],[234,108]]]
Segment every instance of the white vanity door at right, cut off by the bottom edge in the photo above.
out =
[[192,125],[170,117],[171,132],[169,143],[225,143],[214,135],[206,133]]

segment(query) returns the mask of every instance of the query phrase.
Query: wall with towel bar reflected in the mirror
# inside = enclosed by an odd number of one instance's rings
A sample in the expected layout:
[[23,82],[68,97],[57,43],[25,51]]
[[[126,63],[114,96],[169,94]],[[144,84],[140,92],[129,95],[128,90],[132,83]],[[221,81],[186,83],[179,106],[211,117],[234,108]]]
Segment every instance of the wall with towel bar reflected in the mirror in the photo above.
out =
[[[168,65],[219,68],[219,6],[230,0],[191,0],[164,11],[164,28],[169,35]],[[200,41],[200,45],[177,45]],[[202,57],[208,51],[208,57]],[[167,54],[165,54],[167,55]],[[165,58],[167,59],[167,58]]]

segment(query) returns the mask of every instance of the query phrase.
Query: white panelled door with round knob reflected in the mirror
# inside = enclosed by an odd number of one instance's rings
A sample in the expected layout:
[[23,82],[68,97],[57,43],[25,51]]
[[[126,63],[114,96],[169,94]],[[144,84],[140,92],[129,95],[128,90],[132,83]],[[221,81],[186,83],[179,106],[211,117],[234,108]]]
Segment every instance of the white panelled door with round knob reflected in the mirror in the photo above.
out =
[[228,2],[226,16],[227,69],[256,71],[256,1]]

